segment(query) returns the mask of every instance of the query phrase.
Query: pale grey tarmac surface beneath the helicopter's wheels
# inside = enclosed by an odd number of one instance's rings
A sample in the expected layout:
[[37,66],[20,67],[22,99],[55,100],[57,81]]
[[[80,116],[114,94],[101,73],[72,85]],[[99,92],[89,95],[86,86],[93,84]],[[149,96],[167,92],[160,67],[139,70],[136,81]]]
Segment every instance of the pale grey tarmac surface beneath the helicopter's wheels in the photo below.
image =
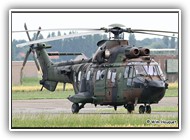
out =
[[[38,99],[38,100],[12,100],[12,114],[17,113],[51,113],[51,114],[60,114],[67,113],[72,114],[71,112],[72,103],[67,99]],[[164,97],[158,104],[152,104],[152,110],[154,107],[177,107],[178,106],[178,97]],[[121,106],[123,108],[123,106]],[[135,107],[136,112],[138,112],[137,105]],[[119,107],[118,107],[119,108]],[[101,109],[105,109],[102,110]],[[110,110],[114,110],[110,106],[97,106],[93,104],[86,104],[85,108],[82,108],[79,113],[93,114],[93,113],[110,113]],[[126,111],[127,112],[127,111]],[[113,112],[112,112],[113,113]],[[117,113],[117,111],[115,112]],[[120,112],[121,113],[121,112]],[[154,112],[152,114],[163,114],[163,115],[172,115],[177,116],[178,112]]]

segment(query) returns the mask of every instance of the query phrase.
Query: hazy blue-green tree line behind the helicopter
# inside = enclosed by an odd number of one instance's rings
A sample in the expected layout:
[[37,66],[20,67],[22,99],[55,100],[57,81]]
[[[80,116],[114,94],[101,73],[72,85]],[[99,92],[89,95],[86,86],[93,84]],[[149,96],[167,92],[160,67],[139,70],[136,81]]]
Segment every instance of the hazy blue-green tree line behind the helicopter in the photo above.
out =
[[[69,32],[68,34],[73,34],[76,32]],[[66,35],[66,33],[64,33]],[[61,36],[61,32],[51,32],[47,37],[42,34],[39,35],[38,39],[50,38],[55,36]],[[33,34],[32,39],[36,38],[36,33]],[[108,39],[107,35],[87,35],[75,38],[68,38],[63,40],[50,41],[46,44],[53,46],[48,49],[48,52],[81,52],[85,54],[88,58],[91,58],[93,53],[97,50],[97,42],[102,39]],[[178,41],[174,37],[163,37],[163,38],[145,38],[143,40],[136,40],[135,34],[131,33],[128,38],[129,45],[137,47],[147,47],[154,49],[163,48],[178,48]],[[16,40],[12,41],[12,61],[23,61],[27,50],[27,46],[23,48],[17,48],[16,45],[24,43],[26,40]],[[56,61],[66,61],[74,59],[76,56],[61,56]],[[33,60],[32,56],[29,56],[29,60]]]

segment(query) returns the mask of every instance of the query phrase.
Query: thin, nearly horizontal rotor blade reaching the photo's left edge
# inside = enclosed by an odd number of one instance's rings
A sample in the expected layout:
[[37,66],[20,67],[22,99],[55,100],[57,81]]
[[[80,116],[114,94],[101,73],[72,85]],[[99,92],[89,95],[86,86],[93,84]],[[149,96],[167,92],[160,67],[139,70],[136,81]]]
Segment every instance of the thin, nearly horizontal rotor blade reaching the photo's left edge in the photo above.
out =
[[95,28],[56,28],[56,29],[38,29],[38,30],[17,30],[12,31],[12,33],[21,33],[21,32],[36,32],[36,31],[99,31],[102,29]]

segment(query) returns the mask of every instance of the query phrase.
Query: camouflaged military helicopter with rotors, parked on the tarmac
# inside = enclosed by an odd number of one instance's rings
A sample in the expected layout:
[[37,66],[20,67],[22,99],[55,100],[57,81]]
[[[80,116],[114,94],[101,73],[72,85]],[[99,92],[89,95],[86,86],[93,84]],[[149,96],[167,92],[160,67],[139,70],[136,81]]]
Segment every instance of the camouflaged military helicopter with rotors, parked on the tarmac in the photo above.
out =
[[[144,30],[124,28],[121,24],[112,24],[110,28],[100,29],[63,29],[63,30],[90,30],[90,32],[58,36],[54,38],[31,40],[30,30],[24,25],[29,42],[18,44],[17,47],[29,45],[26,53],[23,70],[29,54],[32,52],[38,70],[41,67],[41,90],[46,88],[55,91],[58,82],[71,83],[75,95],[69,96],[72,113],[78,113],[86,103],[97,105],[124,106],[131,113],[137,104],[139,113],[151,113],[151,104],[158,103],[168,88],[168,83],[159,64],[150,56],[148,48],[130,46],[124,39],[124,33],[141,33],[160,35],[159,33],[172,33],[171,31]],[[34,31],[34,30],[32,30]],[[46,49],[52,46],[44,42],[72,38],[84,35],[109,33],[113,37],[100,40],[98,49],[90,59],[53,63],[49,55],[79,55],[80,53],[47,53]],[[166,36],[166,35],[161,35]],[[172,36],[173,37],[173,36]],[[37,58],[36,58],[37,56]],[[39,65],[39,64],[40,65]]]

